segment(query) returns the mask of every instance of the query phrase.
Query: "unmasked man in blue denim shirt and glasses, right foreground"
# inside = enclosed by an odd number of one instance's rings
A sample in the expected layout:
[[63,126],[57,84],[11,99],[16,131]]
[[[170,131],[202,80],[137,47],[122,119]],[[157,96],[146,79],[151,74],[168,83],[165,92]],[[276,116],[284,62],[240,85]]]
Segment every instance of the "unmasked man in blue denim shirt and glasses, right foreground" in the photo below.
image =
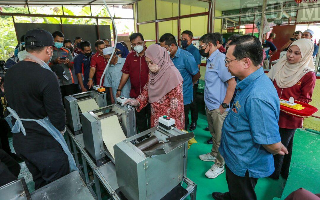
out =
[[226,67],[238,77],[238,92],[223,123],[219,148],[229,192],[213,192],[216,200],[257,199],[258,178],[274,171],[272,154],[288,153],[278,131],[279,97],[261,61],[261,42],[255,36],[241,36],[228,48]]

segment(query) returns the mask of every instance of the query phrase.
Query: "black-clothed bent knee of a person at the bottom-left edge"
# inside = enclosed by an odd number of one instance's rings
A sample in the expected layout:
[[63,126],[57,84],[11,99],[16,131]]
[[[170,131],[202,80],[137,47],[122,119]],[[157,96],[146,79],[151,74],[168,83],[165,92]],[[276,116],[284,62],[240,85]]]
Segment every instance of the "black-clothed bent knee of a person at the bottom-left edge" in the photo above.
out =
[[20,164],[0,149],[0,187],[18,179]]

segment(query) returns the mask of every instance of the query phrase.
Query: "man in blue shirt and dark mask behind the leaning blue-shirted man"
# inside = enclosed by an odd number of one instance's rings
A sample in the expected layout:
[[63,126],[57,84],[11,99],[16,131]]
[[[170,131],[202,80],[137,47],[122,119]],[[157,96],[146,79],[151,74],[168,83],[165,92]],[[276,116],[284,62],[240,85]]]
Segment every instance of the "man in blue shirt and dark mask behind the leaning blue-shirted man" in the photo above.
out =
[[[199,49],[192,44],[192,41],[193,41],[193,34],[191,31],[185,30],[181,33],[182,48],[193,55],[193,57],[196,60],[197,67],[200,70],[201,55],[199,53]],[[198,85],[199,85],[199,80],[196,82],[196,84],[193,85],[193,101],[190,106],[190,111],[191,111],[191,124],[189,127],[190,131],[195,130],[197,126],[198,105],[196,100],[196,93],[197,93]]]

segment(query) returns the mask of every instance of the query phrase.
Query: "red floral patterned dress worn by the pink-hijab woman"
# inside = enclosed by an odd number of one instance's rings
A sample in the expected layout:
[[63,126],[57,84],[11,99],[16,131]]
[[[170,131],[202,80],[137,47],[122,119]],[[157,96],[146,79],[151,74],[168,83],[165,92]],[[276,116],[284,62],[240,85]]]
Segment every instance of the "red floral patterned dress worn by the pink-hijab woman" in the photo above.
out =
[[[137,100],[140,102],[140,107],[136,107],[136,110],[140,112],[142,108],[148,105],[148,89],[149,78],[147,84],[143,87],[143,91]],[[161,116],[169,116],[175,120],[175,127],[177,129],[184,129],[184,109],[183,109],[183,94],[182,94],[182,82],[168,92],[164,97],[151,103],[151,127],[155,127],[159,124],[158,118]]]

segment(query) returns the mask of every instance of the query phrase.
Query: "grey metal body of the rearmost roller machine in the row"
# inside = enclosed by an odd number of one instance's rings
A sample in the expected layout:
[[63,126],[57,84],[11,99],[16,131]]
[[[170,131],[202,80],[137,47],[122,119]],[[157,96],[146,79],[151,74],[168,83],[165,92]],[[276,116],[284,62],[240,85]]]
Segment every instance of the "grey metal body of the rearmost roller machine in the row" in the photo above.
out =
[[81,133],[81,110],[77,102],[88,98],[94,99],[99,107],[107,106],[106,94],[97,91],[82,92],[64,97],[67,125],[75,135]]

